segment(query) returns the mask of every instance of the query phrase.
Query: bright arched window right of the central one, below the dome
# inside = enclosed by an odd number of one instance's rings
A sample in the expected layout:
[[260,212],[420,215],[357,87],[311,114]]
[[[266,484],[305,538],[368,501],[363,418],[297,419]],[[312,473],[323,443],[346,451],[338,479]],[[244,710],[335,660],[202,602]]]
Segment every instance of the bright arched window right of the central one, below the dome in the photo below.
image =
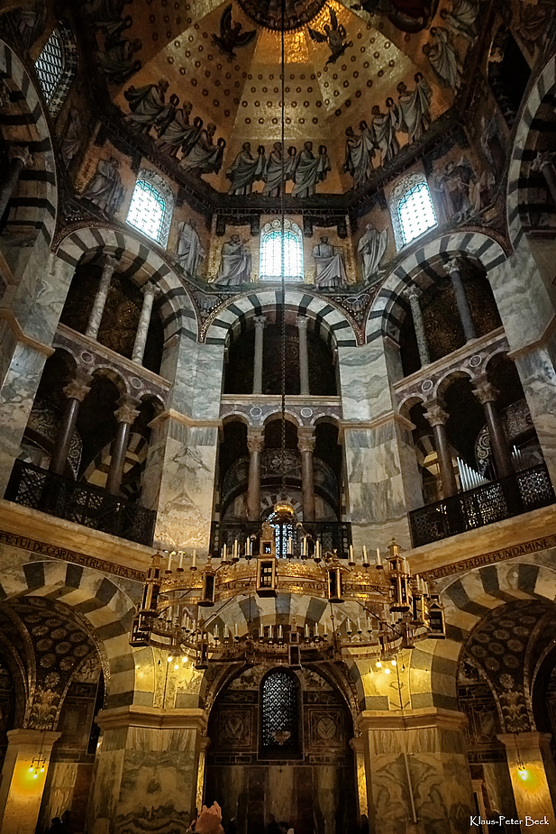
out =
[[398,249],[437,225],[433,199],[424,174],[403,179],[392,193],[392,225]]

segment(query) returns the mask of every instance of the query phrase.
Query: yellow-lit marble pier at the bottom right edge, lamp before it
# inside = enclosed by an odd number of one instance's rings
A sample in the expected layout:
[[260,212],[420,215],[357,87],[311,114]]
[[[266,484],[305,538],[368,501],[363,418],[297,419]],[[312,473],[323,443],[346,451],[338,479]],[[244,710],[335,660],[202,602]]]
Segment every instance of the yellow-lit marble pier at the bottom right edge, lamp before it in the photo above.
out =
[[[520,820],[546,819],[541,830],[555,834],[556,768],[551,756],[550,735],[503,733],[497,738],[506,747],[517,816]],[[533,822],[529,822],[529,826],[533,826]]]

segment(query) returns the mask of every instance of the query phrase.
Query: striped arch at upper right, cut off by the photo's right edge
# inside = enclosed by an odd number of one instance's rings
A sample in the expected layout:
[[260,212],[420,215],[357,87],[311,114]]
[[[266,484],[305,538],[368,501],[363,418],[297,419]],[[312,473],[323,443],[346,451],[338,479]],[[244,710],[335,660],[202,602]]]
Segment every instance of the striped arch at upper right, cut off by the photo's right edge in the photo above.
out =
[[[554,110],[554,87],[556,87],[556,56],[542,69],[524,105],[510,159],[507,179],[507,225],[510,239],[516,247],[526,229],[522,225],[521,211],[525,205],[539,202],[539,191],[545,190],[542,173],[534,174],[531,163],[536,153],[537,141],[542,135],[546,115]],[[548,123],[553,131],[553,118]]]

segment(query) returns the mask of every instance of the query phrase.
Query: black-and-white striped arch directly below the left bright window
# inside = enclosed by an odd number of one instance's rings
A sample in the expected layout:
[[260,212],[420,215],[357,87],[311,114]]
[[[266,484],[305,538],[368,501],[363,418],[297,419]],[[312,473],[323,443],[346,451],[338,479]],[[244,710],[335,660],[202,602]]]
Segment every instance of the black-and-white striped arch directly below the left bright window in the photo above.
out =
[[196,313],[184,280],[144,241],[119,229],[84,226],[69,232],[56,252],[62,261],[74,267],[81,261],[92,261],[100,254],[113,255],[123,264],[120,275],[139,286],[150,280],[163,290],[160,318],[165,340],[183,334],[196,342]]

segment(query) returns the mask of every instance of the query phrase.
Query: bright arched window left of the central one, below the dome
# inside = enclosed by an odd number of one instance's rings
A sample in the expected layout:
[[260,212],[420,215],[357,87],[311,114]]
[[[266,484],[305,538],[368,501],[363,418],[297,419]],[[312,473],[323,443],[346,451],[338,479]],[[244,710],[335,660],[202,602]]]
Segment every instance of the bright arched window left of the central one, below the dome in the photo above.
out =
[[172,222],[173,196],[155,171],[141,170],[133,189],[127,223],[151,240],[166,246]]

